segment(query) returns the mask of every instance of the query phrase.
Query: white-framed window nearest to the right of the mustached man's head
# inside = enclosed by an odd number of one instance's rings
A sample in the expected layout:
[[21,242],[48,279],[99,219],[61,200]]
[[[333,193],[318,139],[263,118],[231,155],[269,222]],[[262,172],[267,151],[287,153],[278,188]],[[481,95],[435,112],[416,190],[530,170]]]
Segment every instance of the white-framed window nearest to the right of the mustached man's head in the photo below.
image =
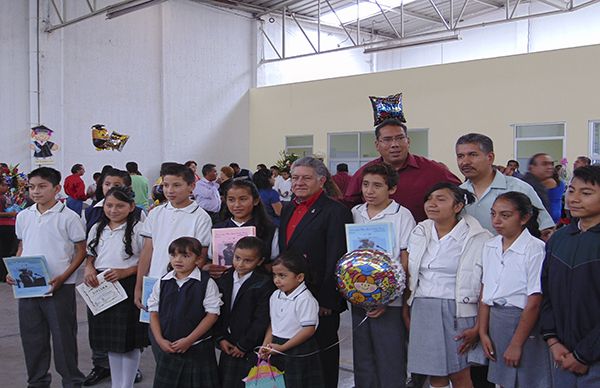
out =
[[[515,156],[521,171],[537,153],[550,155],[554,163],[565,156],[565,123],[515,124]],[[499,161],[500,162],[500,161]]]

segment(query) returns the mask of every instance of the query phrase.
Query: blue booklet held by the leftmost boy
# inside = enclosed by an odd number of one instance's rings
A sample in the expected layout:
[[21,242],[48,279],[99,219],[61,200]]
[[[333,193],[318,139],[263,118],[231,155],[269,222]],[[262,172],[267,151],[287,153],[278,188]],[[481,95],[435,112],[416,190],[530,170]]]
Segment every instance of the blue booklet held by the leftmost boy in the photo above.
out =
[[44,256],[5,257],[4,264],[15,279],[15,298],[39,298],[52,296],[48,262]]

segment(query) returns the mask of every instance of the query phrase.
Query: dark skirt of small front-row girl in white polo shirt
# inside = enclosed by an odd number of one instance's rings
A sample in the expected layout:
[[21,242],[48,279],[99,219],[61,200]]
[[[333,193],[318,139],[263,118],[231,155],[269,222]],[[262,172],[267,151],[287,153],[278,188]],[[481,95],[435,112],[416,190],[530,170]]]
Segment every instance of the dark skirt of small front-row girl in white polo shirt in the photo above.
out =
[[[273,336],[273,343],[283,345],[288,340]],[[312,353],[319,349],[317,341],[310,338],[308,341],[285,352],[290,356],[297,356]],[[286,388],[325,388],[323,373],[321,370],[321,360],[319,354],[308,357],[289,357],[280,354],[274,354],[271,357],[271,364],[283,371]],[[338,371],[332,371],[337,373]]]

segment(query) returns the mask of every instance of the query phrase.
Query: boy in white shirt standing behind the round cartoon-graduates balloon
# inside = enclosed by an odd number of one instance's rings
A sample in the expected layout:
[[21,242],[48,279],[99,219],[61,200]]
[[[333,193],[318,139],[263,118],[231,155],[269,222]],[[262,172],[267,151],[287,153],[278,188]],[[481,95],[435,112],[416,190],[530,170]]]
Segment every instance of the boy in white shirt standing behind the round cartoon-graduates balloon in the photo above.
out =
[[[392,261],[407,271],[408,238],[415,227],[410,210],[390,195],[396,192],[398,173],[388,164],[374,164],[364,169],[362,195],[365,203],[352,209],[357,224],[389,222],[393,229]],[[406,328],[402,318],[402,298],[387,306],[366,312],[352,306],[354,381],[357,387],[403,388],[406,386]],[[394,357],[390,358],[390,355]]]

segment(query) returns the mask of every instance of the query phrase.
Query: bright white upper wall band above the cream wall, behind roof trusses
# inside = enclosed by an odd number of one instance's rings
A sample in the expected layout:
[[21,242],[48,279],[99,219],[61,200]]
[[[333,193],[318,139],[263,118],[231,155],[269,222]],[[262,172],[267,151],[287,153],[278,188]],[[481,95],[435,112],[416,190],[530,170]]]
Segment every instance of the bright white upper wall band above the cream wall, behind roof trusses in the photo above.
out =
[[[542,9],[547,11],[549,6],[522,4],[515,12],[515,17],[530,12],[538,13]],[[475,24],[497,20],[504,14],[505,10],[499,9],[470,18],[468,22]],[[279,48],[281,22],[277,17],[275,19],[275,23],[266,24],[265,28]],[[566,14],[462,29],[459,31],[462,38],[460,41],[406,47],[372,54],[364,54],[362,48],[356,48],[269,62],[259,66],[257,83],[258,86],[279,85],[598,44],[600,43],[599,20],[600,3]],[[304,27],[309,30],[313,42],[316,41],[314,28],[311,30],[308,24]],[[288,55],[311,52],[306,39],[300,35],[293,21],[287,21],[286,31]],[[335,48],[336,43],[341,47],[349,45],[343,32],[328,32],[322,35],[327,42],[323,47]],[[364,35],[363,38],[368,39],[368,35]],[[276,57],[262,34],[259,34],[259,42],[259,56],[262,59]]]

